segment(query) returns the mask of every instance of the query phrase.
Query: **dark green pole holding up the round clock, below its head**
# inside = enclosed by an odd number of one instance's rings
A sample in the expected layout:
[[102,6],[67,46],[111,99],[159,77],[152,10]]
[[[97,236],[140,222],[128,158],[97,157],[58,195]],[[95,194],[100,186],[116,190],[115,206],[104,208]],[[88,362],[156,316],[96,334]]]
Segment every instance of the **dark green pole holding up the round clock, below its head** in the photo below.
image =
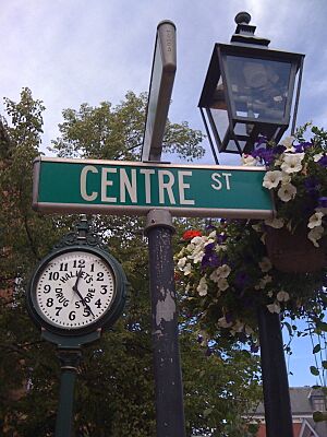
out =
[[58,357],[61,363],[61,378],[55,436],[71,437],[73,435],[74,386],[81,350],[59,349]]

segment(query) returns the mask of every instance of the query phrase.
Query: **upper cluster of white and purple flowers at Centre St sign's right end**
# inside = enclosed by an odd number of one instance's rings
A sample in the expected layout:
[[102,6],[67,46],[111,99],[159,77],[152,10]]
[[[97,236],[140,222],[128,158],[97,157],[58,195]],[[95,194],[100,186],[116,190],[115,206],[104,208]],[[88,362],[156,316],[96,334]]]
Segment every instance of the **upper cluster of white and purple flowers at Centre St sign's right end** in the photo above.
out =
[[266,224],[290,231],[304,224],[307,238],[319,247],[327,233],[327,132],[313,127],[313,137],[306,141],[307,127],[277,145],[261,141],[242,162],[267,167],[263,186],[275,194],[277,216]]

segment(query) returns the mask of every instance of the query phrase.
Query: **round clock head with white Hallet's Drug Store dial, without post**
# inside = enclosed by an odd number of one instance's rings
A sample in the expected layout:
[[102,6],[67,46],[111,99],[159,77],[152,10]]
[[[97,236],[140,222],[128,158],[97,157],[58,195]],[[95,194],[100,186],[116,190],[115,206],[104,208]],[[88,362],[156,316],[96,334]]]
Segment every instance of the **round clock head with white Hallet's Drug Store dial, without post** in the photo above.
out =
[[120,263],[85,229],[82,237],[69,234],[62,247],[44,258],[29,283],[29,314],[55,334],[84,335],[110,327],[124,307],[126,279]]

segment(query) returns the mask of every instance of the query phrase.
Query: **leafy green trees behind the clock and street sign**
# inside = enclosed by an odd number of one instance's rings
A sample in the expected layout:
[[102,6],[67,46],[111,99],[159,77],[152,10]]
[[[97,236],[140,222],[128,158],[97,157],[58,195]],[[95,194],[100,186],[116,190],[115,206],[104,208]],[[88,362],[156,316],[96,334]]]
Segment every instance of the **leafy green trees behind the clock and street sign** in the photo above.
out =
[[[76,215],[44,215],[31,209],[32,162],[39,153],[43,103],[24,88],[21,101],[5,99],[0,125],[0,420],[3,436],[53,433],[59,365],[55,347],[40,340],[24,294],[36,263],[71,231]],[[128,93],[112,107],[65,109],[59,156],[135,160],[140,156],[146,95]],[[187,123],[169,122],[165,149],[184,160],[203,155],[202,134]],[[76,435],[145,437],[155,434],[154,382],[144,221],[89,216],[131,283],[123,317],[83,352],[75,402]],[[178,226],[183,228],[184,221]],[[5,291],[8,291],[5,293]],[[210,349],[208,353],[208,346]],[[257,399],[257,361],[244,351],[198,342],[192,320],[181,320],[181,351],[187,435],[245,435],[241,414]],[[250,402],[252,403],[252,402]],[[246,404],[247,405],[247,404]],[[225,434],[223,434],[225,433]]]

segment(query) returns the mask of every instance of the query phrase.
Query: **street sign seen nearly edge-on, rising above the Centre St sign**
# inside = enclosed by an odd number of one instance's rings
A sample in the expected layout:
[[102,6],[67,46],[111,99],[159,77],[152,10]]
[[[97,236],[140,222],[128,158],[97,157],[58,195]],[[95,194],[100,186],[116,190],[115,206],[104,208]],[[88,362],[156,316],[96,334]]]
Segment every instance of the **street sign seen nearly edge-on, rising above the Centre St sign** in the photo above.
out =
[[168,109],[177,69],[175,26],[158,24],[148,93],[142,161],[160,161]]

